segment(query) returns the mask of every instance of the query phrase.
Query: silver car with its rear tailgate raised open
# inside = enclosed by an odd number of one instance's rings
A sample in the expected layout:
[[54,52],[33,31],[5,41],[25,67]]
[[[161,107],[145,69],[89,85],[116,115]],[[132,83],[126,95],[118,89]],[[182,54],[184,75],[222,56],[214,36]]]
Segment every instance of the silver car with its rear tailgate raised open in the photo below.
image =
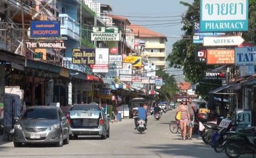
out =
[[75,139],[78,136],[101,136],[101,139],[109,138],[109,115],[105,115],[103,109],[97,104],[80,104],[73,106],[68,114],[70,132]]

